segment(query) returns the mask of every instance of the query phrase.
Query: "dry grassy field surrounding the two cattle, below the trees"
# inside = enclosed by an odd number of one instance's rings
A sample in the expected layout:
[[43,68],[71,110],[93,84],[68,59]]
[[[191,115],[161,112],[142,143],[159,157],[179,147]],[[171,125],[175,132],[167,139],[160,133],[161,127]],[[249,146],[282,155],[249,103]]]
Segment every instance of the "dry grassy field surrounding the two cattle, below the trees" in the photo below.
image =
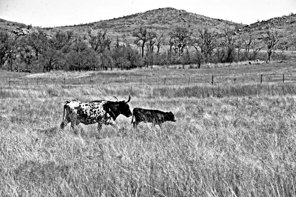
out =
[[[295,66],[1,72],[0,195],[296,196]],[[66,100],[128,95],[177,122],[59,129]]]

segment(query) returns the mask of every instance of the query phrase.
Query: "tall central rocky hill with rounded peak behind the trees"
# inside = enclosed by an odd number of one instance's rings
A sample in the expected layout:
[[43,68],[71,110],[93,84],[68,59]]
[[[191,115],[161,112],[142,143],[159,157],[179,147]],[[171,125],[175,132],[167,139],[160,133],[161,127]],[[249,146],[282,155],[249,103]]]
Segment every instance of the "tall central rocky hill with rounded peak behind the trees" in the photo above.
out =
[[210,18],[175,8],[159,8],[121,18],[46,29],[50,31],[73,30],[75,33],[82,35],[85,34],[85,30],[87,29],[106,30],[113,40],[116,39],[117,35],[121,36],[123,33],[125,33],[128,40],[131,40],[133,39],[132,32],[138,30],[140,26],[150,28],[156,33],[169,33],[176,27],[186,27],[188,30],[196,33],[199,29],[205,28],[217,31],[227,27],[231,29],[239,29],[245,25],[222,19]]

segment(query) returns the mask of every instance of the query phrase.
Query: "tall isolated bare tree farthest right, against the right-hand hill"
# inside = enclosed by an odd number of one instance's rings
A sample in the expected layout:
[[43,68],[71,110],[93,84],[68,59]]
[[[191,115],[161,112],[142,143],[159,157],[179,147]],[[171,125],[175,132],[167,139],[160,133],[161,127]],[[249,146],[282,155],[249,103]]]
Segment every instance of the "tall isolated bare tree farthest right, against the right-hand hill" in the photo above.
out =
[[271,27],[266,27],[264,33],[261,34],[261,39],[266,45],[265,50],[268,54],[268,60],[270,62],[271,55],[275,50],[275,46],[278,43],[278,31],[273,31]]

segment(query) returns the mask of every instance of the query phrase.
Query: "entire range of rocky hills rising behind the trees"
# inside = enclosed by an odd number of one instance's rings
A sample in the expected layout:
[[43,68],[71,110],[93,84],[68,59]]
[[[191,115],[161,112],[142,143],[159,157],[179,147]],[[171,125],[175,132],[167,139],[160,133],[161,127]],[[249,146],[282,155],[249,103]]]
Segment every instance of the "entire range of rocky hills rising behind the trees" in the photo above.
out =
[[[289,16],[270,18],[269,20],[262,20],[261,22],[255,22],[250,25],[230,22],[222,19],[210,18],[200,14],[187,12],[185,10],[178,10],[175,8],[159,8],[155,10],[149,10],[143,13],[132,14],[123,16],[120,18],[113,18],[109,20],[102,20],[98,22],[91,22],[73,26],[60,26],[60,27],[47,27],[42,28],[47,31],[48,34],[52,34],[59,30],[66,31],[72,30],[74,33],[84,36],[86,30],[102,30],[107,31],[109,37],[116,39],[117,35],[121,36],[125,34],[128,41],[133,42],[132,33],[140,26],[144,26],[154,30],[156,33],[165,32],[168,34],[176,27],[185,27],[188,30],[196,33],[200,29],[212,29],[221,31],[225,28],[234,29],[236,35],[244,35],[250,32],[254,33],[254,38],[259,38],[261,33],[267,26],[271,26],[274,30],[277,30],[283,40],[291,40],[296,38],[294,33],[296,26],[296,14],[290,14]],[[28,34],[30,31],[27,28],[30,27],[33,30],[38,27],[31,27],[23,23],[6,21],[0,19],[0,30],[6,30],[14,34]]]

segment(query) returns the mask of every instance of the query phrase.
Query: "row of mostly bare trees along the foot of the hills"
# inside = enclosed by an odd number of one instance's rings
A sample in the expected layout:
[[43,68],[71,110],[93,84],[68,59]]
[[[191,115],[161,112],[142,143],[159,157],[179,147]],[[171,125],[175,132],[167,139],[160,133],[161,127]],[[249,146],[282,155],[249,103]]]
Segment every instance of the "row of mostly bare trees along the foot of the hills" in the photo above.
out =
[[[233,29],[220,32],[210,29],[191,32],[178,27],[171,32],[156,33],[140,27],[132,33],[130,43],[125,34],[113,41],[106,32],[87,30],[83,37],[73,31],[53,35],[37,29],[26,36],[0,31],[0,69],[50,72],[51,70],[129,70],[153,65],[189,65],[204,63],[285,58],[275,49],[288,50],[295,42],[280,39],[277,31],[267,27],[259,38],[252,32],[236,35]],[[281,40],[281,41],[280,41]],[[265,51],[265,53],[262,53]]]

